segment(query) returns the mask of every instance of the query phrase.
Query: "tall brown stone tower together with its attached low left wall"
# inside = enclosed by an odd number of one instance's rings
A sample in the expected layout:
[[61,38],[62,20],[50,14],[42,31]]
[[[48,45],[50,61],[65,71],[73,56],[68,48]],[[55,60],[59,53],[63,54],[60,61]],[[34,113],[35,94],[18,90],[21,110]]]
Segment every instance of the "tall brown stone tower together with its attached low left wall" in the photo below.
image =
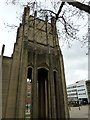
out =
[[68,118],[56,20],[29,12],[25,7],[12,57],[3,56],[3,118],[24,118],[27,78],[32,81],[31,118]]

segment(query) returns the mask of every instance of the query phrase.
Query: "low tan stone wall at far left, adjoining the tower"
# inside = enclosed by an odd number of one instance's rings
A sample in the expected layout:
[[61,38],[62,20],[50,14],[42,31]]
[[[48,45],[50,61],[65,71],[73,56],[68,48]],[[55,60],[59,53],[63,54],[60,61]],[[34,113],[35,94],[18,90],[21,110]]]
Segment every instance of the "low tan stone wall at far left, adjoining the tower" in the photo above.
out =
[[11,73],[11,63],[12,59],[9,57],[3,57],[2,62],[2,115],[4,116],[6,110],[6,102],[8,96],[8,89],[9,89],[9,80],[10,80],[10,73]]

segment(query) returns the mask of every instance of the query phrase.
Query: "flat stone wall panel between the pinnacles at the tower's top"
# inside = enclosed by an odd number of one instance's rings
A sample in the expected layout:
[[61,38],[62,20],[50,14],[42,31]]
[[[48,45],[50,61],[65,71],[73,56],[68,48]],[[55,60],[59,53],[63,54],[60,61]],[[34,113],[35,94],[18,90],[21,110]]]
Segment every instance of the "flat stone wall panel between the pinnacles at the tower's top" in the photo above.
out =
[[[49,44],[52,47],[54,46],[53,25],[51,23],[37,18],[34,20],[34,17],[30,16],[28,24],[29,24],[28,40],[34,41],[34,35],[35,35],[36,42],[44,45]],[[35,29],[34,29],[34,24],[35,24]],[[54,34],[56,33],[54,32]],[[47,40],[47,36],[48,36],[48,40]]]

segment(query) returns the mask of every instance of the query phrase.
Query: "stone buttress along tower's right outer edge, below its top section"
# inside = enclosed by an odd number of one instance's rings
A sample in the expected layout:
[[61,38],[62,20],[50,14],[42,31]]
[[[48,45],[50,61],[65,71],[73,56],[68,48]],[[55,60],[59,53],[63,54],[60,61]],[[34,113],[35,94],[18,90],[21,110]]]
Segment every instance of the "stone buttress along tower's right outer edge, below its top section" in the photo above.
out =
[[[60,87],[60,108],[63,108],[61,111],[61,117],[66,119],[69,118],[69,112],[68,112],[68,107],[67,107],[67,94],[66,94],[66,83],[65,83],[65,74],[64,74],[64,63],[63,63],[63,56],[58,49],[58,71],[59,71],[59,87]],[[64,106],[64,107],[63,107]]]

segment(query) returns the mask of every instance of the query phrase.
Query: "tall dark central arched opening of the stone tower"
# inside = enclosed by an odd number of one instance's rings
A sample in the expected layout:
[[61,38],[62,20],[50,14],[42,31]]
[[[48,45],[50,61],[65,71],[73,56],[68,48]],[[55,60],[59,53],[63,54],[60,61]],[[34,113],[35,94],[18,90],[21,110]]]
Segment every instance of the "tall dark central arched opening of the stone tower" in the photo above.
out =
[[38,117],[47,118],[48,116],[48,70],[38,69]]

